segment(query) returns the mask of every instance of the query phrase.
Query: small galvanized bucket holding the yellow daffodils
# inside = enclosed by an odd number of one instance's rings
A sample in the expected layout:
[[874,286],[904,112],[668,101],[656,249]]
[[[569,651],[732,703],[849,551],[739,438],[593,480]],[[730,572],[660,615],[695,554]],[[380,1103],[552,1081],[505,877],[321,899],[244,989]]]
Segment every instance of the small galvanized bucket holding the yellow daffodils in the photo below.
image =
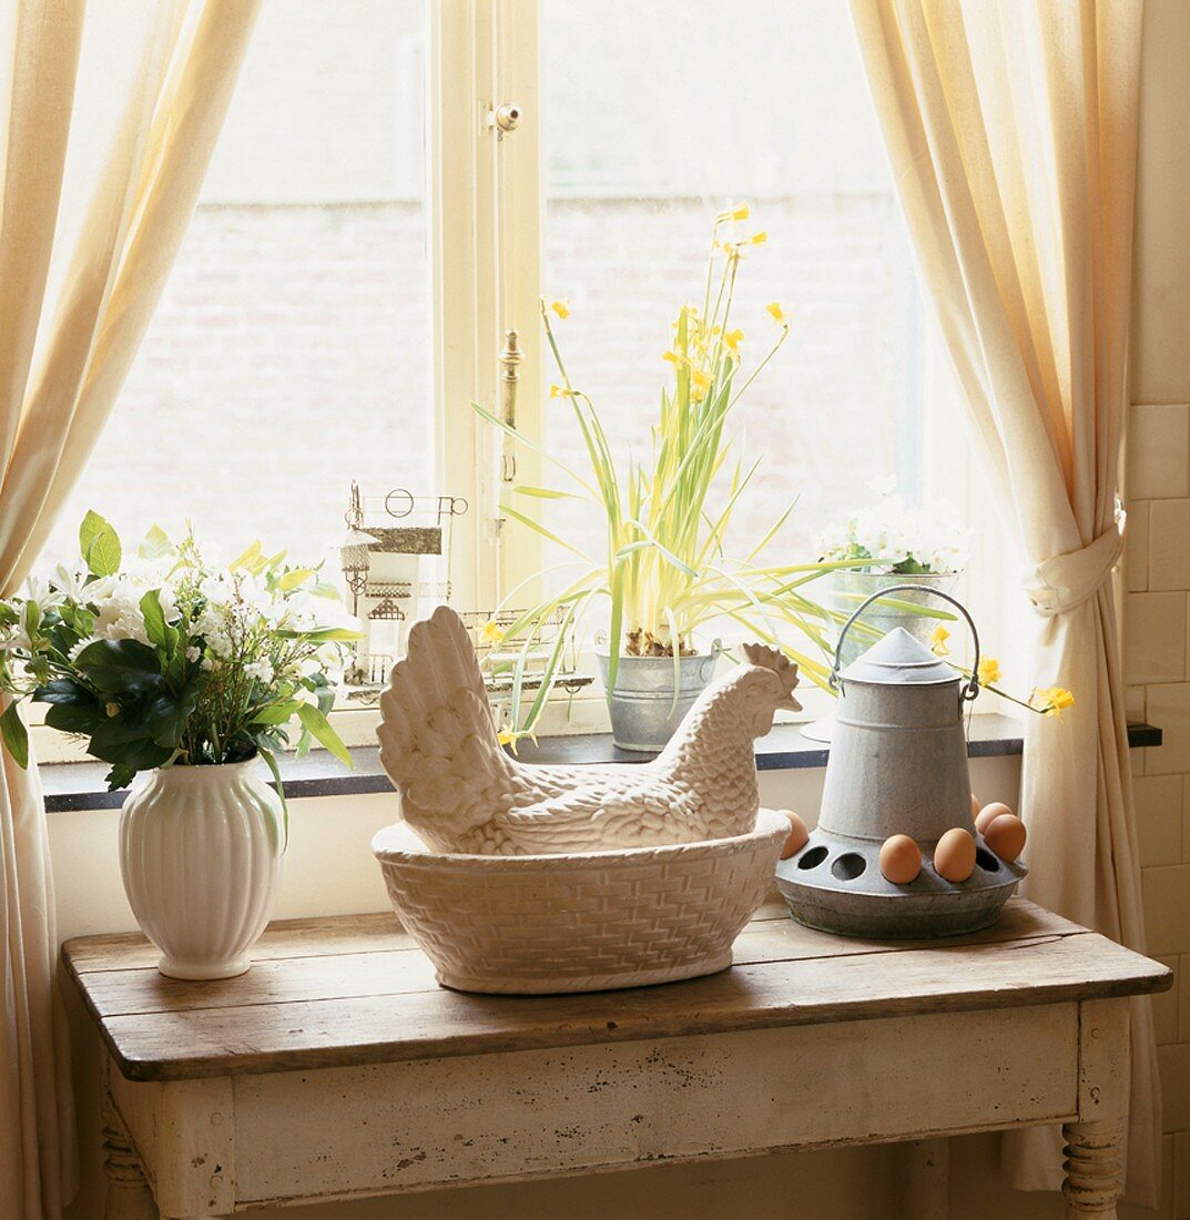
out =
[[[611,739],[621,750],[658,754],[674,736],[694,700],[714,677],[723,651],[716,640],[709,653],[679,660],[677,697],[674,697],[673,656],[621,656],[615,689],[608,693]],[[599,673],[608,686],[610,656],[598,653]]]

